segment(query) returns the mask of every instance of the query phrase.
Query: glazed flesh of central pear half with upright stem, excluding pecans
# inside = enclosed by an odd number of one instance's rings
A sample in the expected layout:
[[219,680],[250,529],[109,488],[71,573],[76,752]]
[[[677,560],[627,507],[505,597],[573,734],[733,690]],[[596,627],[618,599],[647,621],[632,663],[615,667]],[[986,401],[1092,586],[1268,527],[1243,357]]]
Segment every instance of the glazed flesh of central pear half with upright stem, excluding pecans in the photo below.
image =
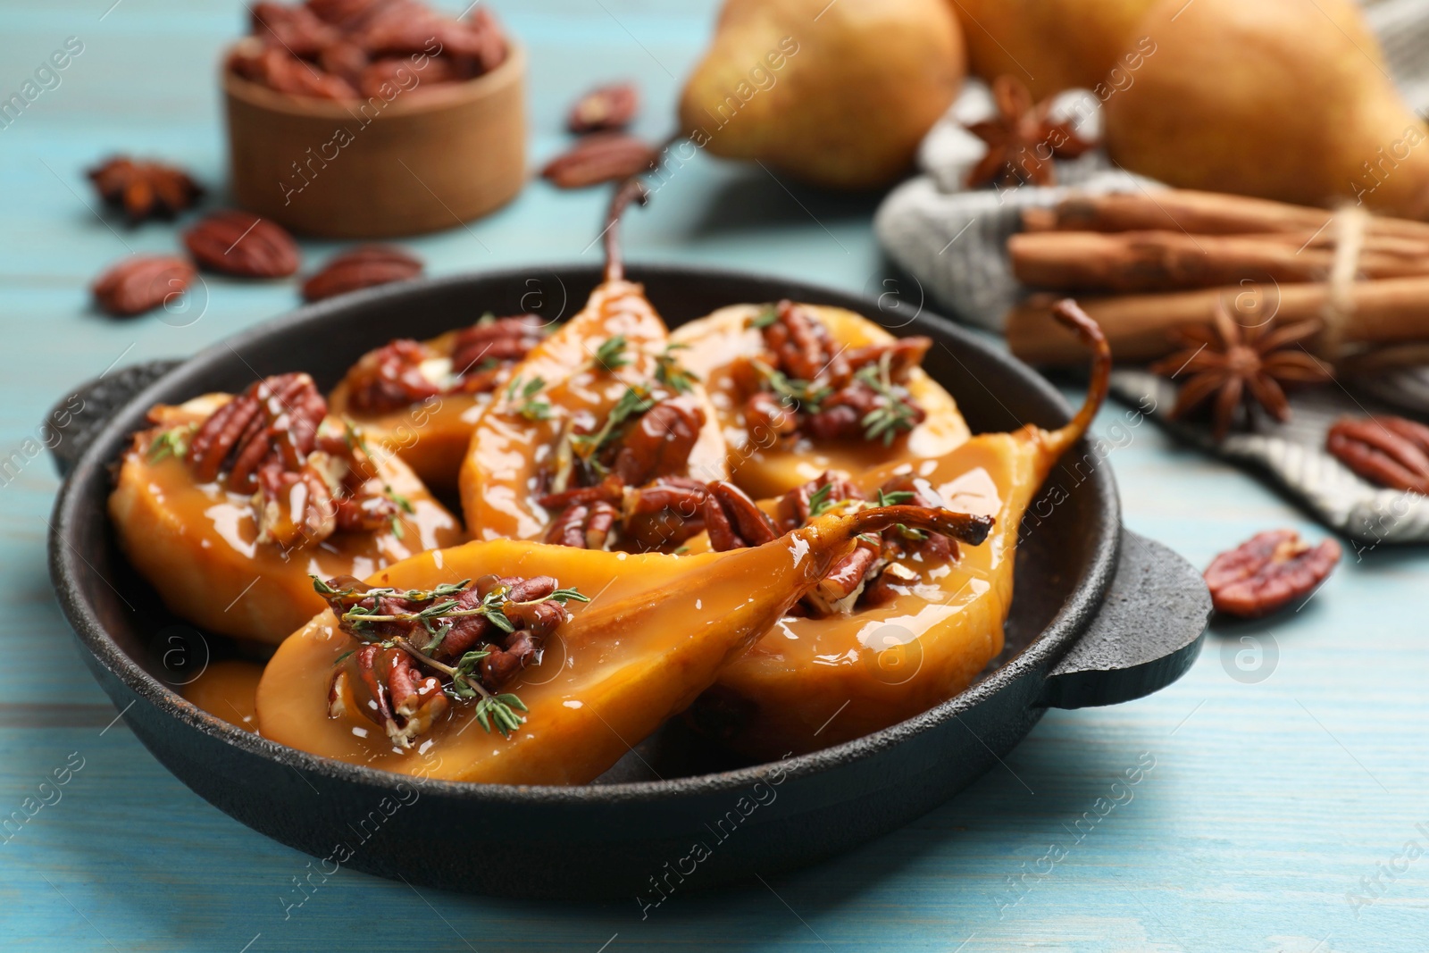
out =
[[[624,334],[630,363],[612,373],[593,364],[596,349]],[[540,539],[550,513],[536,497],[542,476],[553,466],[562,430],[577,416],[604,420],[630,384],[653,380],[656,357],[670,343],[664,321],[639,284],[610,281],[597,287],[576,317],[537,344],[512,371],[513,381],[536,379],[546,387],[536,397],[550,406],[550,419],[529,420],[519,400],[499,394],[477,420],[462,464],[462,510],[473,539]],[[684,363],[689,351],[679,351]],[[702,387],[693,394],[704,406],[704,426],[690,453],[687,473],[702,480],[726,476],[719,417]]]

